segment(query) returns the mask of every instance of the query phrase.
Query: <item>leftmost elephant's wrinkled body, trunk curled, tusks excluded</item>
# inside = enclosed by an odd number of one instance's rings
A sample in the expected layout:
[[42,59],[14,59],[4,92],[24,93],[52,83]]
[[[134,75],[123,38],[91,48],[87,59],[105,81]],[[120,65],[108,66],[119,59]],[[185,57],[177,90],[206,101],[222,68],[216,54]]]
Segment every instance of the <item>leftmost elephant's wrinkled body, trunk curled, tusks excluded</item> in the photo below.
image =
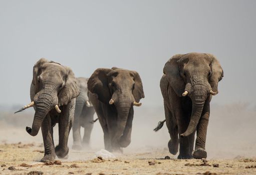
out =
[[[79,87],[74,73],[69,67],[41,58],[33,68],[31,100],[35,101],[35,115],[32,128],[27,132],[38,134],[40,127],[45,146],[45,155],[41,161],[53,161],[56,155],[65,158],[68,155],[68,137],[74,118],[76,96]],[[55,109],[58,104],[61,113]],[[53,127],[59,123],[59,145],[54,147]]]

